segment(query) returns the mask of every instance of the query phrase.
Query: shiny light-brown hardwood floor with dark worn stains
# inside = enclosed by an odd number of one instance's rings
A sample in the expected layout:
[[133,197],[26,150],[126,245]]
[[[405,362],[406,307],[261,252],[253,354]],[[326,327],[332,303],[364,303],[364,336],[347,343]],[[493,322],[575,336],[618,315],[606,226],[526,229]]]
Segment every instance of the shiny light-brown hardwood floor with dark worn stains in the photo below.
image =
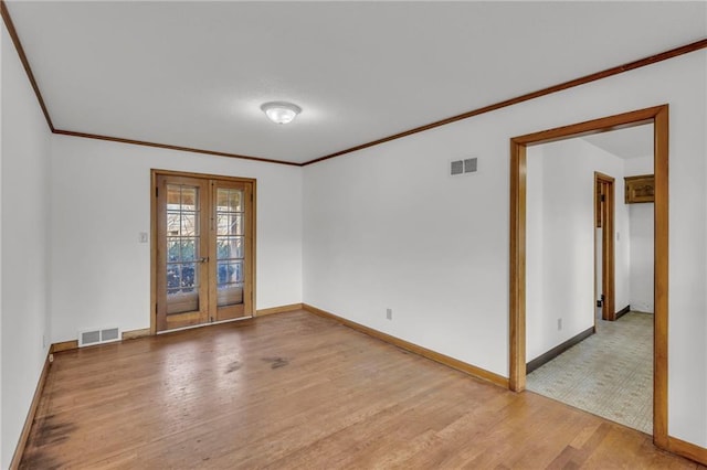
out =
[[57,353],[21,468],[704,468],[297,311]]

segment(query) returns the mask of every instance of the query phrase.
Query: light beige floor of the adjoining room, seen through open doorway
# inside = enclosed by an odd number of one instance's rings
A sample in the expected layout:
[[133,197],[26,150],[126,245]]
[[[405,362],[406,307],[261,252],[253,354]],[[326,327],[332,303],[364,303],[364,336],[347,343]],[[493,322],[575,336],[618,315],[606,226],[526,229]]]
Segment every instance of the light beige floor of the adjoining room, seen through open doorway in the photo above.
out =
[[528,374],[540,395],[653,434],[653,316],[597,320],[597,333]]

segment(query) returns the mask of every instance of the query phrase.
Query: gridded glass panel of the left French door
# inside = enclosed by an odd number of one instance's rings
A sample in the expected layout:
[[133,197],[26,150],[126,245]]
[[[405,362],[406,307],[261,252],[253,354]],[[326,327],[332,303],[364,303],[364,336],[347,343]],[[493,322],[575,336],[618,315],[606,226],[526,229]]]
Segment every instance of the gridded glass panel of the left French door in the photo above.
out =
[[199,188],[167,184],[167,314],[199,310]]

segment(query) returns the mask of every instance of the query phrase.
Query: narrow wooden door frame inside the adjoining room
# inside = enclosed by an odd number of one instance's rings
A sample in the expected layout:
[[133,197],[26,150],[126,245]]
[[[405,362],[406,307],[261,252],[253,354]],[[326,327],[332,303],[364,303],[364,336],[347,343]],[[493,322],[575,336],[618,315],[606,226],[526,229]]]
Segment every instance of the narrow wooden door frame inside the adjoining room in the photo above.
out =
[[[616,319],[616,292],[615,292],[615,250],[614,250],[614,217],[615,217],[615,180],[608,175],[600,173],[598,171],[594,172],[594,191],[597,191],[597,183],[609,184],[611,190],[606,193],[606,200],[604,201],[605,205],[602,207],[599,203],[599,194],[594,194],[594,217],[601,212],[602,218],[602,244],[601,244],[601,288],[602,293],[604,295],[602,306],[601,306],[601,314],[602,320],[614,321]],[[594,237],[597,236],[597,231],[594,231]],[[597,242],[594,241],[594,249],[597,249]],[[594,254],[594,260],[597,260],[597,254]],[[594,267],[594,269],[597,269]],[[597,273],[594,273],[594,279],[597,279]],[[594,292],[594,298],[597,298],[597,292]],[[594,312],[594,308],[592,308],[592,312]],[[592,317],[595,317],[592,314]]]

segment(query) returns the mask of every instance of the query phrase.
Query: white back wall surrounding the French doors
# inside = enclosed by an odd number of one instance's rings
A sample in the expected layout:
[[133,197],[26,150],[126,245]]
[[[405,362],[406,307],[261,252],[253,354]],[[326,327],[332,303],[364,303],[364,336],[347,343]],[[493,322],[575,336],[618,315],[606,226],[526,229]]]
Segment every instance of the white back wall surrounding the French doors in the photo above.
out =
[[302,302],[302,169],[52,138],[52,341],[150,325],[150,169],[257,179],[256,308]]

